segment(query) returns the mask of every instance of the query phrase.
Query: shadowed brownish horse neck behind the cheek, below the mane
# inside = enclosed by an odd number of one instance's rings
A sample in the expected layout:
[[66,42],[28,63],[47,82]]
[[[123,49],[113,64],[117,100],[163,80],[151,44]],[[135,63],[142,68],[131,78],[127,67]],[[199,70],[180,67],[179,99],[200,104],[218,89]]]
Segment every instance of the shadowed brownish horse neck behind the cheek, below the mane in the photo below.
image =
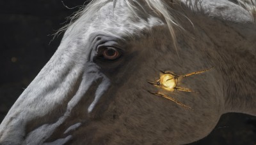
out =
[[256,25],[215,24],[203,29],[214,45],[209,52],[223,77],[225,112],[256,115]]

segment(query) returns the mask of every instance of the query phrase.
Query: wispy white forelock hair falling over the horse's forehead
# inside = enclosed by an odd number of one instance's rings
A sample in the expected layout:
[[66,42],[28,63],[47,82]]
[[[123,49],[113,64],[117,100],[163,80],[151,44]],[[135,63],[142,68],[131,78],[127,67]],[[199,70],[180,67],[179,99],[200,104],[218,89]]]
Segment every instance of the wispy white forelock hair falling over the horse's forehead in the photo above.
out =
[[[81,8],[76,13],[74,13],[71,17],[68,18],[68,21],[69,21],[68,24],[65,25],[64,27],[61,27],[61,29],[58,32],[56,32],[56,34],[58,35],[58,34],[60,34],[60,32],[67,30],[67,28],[70,27],[70,25],[74,24],[74,22],[76,22],[76,20],[81,17],[81,15],[84,15],[86,13],[87,14],[97,13],[97,11],[99,11],[100,8],[102,8],[102,6],[104,6],[106,3],[109,3],[109,1],[113,1],[113,10],[114,10],[115,4],[119,0],[92,0],[86,6],[81,6]],[[179,22],[177,22],[177,17],[175,17],[175,15],[173,15],[174,13],[177,13],[177,11],[173,10],[171,6],[173,4],[179,4],[180,3],[179,0],[178,1],[170,1],[168,3],[166,3],[163,0],[154,0],[154,1],[152,1],[152,0],[142,0],[142,1],[124,0],[124,2],[129,7],[129,10],[131,10],[132,13],[134,13],[136,16],[138,16],[137,15],[138,11],[140,11],[140,13],[143,12],[146,15],[148,15],[149,13],[154,11],[154,13],[159,15],[159,17],[163,17],[166,20],[166,24],[168,25],[170,34],[172,35],[173,42],[176,42],[174,27],[179,27],[180,29],[182,29],[182,27],[181,27],[181,25],[179,25]],[[152,11],[146,11],[143,4],[144,5],[146,4]],[[84,16],[88,20],[90,20],[90,18],[92,18],[92,15],[84,15]],[[176,46],[176,44],[174,44],[174,45]]]

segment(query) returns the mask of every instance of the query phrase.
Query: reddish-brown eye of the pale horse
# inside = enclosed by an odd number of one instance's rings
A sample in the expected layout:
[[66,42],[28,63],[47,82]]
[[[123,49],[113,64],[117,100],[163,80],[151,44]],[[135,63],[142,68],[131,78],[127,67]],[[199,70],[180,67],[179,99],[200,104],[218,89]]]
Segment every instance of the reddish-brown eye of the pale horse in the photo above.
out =
[[115,60],[118,59],[118,57],[120,57],[120,52],[118,52],[116,48],[106,47],[102,52],[102,57],[106,60]]

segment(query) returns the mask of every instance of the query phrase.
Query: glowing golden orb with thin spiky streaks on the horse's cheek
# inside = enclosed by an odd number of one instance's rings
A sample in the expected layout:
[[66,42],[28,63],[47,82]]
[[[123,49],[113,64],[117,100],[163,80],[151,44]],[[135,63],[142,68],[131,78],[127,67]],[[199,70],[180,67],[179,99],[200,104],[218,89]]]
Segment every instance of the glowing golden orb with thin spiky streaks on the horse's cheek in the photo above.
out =
[[[212,69],[212,67],[210,69]],[[151,85],[154,85],[154,86],[158,86],[160,88],[164,88],[165,90],[168,90],[170,92],[173,92],[174,90],[179,90],[179,91],[183,91],[183,92],[195,92],[193,90],[190,90],[189,88],[182,88],[182,87],[178,86],[178,82],[182,78],[186,78],[188,76],[192,76],[195,74],[200,74],[202,72],[209,71],[210,69],[205,69],[202,71],[196,71],[196,72],[191,72],[191,73],[182,74],[182,75],[175,74],[171,71],[161,71],[160,78],[156,82],[148,81],[148,83],[150,83]],[[151,91],[148,91],[148,92],[152,93],[153,95],[159,95],[166,99],[172,100],[179,106],[186,107],[187,109],[192,109],[191,107],[187,106],[186,104],[183,104],[182,102],[179,102],[178,100],[175,100],[168,95],[164,95],[163,93],[151,92]]]

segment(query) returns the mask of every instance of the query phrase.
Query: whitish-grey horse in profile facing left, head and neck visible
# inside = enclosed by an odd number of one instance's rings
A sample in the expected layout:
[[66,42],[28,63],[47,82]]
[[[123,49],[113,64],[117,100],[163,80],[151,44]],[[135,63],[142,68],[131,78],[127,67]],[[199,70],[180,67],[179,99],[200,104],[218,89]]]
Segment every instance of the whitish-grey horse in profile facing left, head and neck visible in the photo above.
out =
[[254,0],[92,1],[4,118],[0,144],[186,144],[221,114],[256,115],[254,12]]

